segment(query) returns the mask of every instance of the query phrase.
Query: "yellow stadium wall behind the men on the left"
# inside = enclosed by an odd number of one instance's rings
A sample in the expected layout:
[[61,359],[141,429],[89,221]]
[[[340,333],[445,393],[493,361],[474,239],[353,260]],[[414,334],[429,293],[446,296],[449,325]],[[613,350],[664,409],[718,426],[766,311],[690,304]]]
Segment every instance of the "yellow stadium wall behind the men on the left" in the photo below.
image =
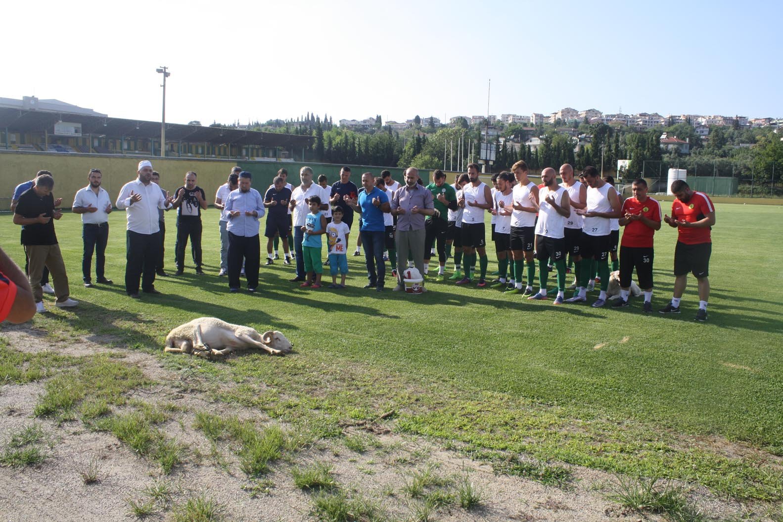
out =
[[[0,150],[0,210],[8,210],[13,189],[35,177],[39,170],[48,170],[54,177],[55,198],[63,198],[63,208],[70,208],[76,191],[87,186],[90,169],[103,172],[102,187],[109,192],[112,201],[120,189],[138,176],[139,161],[145,158],[114,157],[108,154],[46,154]],[[236,161],[193,158],[147,158],[153,169],[161,174],[161,187],[175,190],[182,186],[185,173],[197,173],[199,187],[207,193],[207,202],[215,201],[215,192],[229,177]],[[258,189],[258,187],[256,187]],[[262,187],[260,190],[265,190]]]

